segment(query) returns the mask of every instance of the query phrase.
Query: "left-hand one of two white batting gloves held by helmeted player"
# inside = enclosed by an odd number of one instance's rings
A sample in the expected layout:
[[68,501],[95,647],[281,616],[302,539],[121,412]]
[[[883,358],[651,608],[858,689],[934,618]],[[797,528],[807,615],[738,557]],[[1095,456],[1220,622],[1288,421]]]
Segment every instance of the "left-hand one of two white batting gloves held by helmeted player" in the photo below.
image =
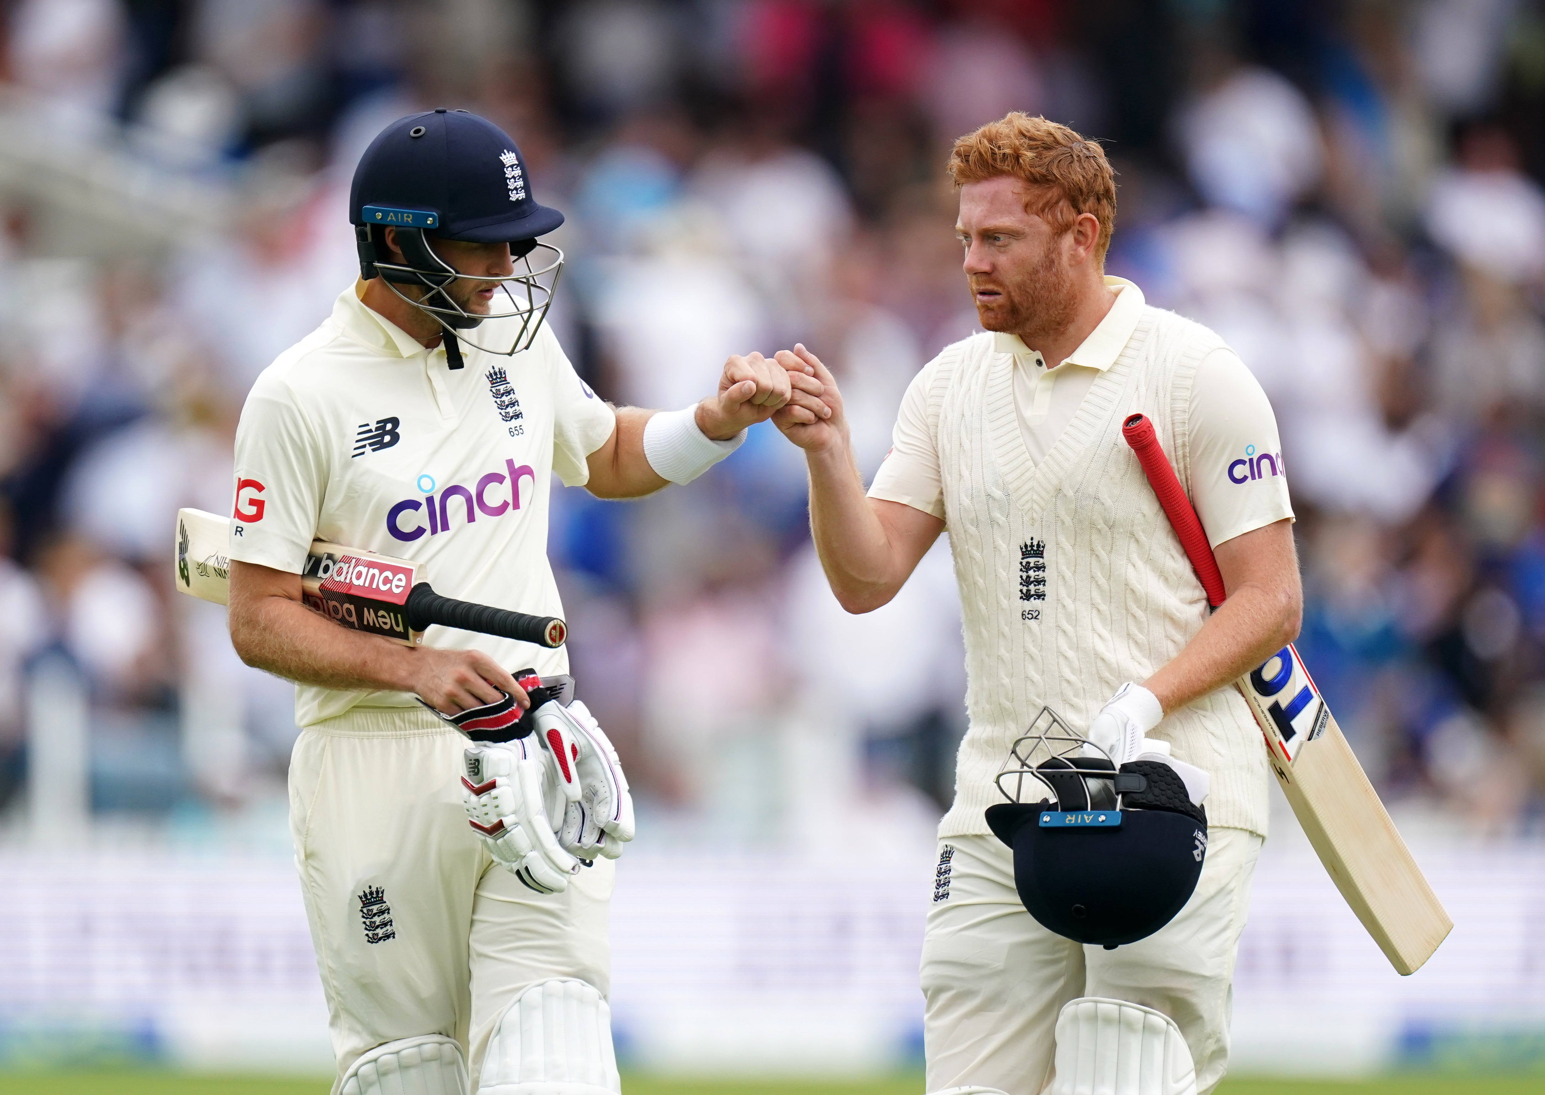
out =
[[558,809],[564,803],[553,755],[528,735],[479,741],[462,757],[462,806],[488,854],[536,893],[567,890],[579,860],[553,834],[548,805]]

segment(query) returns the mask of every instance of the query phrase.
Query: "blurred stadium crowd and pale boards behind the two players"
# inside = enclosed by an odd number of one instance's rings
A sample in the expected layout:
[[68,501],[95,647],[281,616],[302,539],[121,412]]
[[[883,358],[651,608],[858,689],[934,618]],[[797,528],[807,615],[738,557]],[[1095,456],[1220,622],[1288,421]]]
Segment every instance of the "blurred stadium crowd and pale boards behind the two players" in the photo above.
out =
[[[1545,3],[0,9],[3,1090],[328,1070],[290,689],[173,595],[171,514],[229,507],[247,388],[354,276],[358,153],[434,105],[504,125],[569,215],[552,323],[599,392],[684,406],[728,352],[803,340],[865,474],[975,329],[950,139],[1010,108],[1103,139],[1109,272],[1272,395],[1301,650],[1457,922],[1397,978],[1278,798],[1238,1069],[1545,1069]],[[953,576],[936,550],[844,616],[803,507],[766,426],[657,499],[555,493],[575,672],[638,795],[613,944],[640,1073],[919,1059]]]

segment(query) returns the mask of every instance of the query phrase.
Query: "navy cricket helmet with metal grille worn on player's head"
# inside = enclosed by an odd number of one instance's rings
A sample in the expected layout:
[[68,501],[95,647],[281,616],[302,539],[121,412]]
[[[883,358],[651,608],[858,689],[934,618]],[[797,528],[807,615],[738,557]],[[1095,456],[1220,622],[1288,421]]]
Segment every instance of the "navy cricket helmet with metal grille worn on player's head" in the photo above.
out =
[[[433,317],[445,332],[453,369],[460,368],[457,332],[485,320],[519,323],[508,347],[479,349],[508,355],[531,344],[564,264],[564,253],[538,238],[561,225],[564,215],[538,204],[521,150],[497,125],[443,107],[397,119],[377,134],[354,168],[349,221],[355,225],[360,276],[380,276],[402,300]],[[388,227],[397,229],[400,264],[386,259]],[[507,242],[514,272],[491,278],[459,273],[434,252],[430,238]],[[494,283],[510,307],[487,315],[470,312],[448,292],[454,281]],[[409,297],[399,286],[413,286],[419,293]]]

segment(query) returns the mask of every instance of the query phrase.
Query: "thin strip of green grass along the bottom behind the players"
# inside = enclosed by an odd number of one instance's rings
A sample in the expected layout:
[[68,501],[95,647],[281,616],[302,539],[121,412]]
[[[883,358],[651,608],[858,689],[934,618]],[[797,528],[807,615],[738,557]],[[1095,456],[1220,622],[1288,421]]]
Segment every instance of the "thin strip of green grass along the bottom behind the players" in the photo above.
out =
[[[1539,1095],[1540,1076],[1401,1075],[1364,1081],[1227,1080],[1217,1095]],[[627,1076],[627,1095],[922,1095],[918,1076],[870,1081],[671,1080]],[[326,1080],[196,1076],[176,1072],[0,1072],[0,1095],[326,1095]]]

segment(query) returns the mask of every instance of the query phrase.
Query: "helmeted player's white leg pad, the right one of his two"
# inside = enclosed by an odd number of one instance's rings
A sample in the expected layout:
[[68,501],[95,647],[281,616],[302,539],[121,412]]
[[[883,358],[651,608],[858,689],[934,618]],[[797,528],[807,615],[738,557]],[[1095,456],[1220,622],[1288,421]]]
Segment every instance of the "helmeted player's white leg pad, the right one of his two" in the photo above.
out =
[[612,1009],[584,981],[539,981],[488,1039],[477,1095],[620,1095]]

